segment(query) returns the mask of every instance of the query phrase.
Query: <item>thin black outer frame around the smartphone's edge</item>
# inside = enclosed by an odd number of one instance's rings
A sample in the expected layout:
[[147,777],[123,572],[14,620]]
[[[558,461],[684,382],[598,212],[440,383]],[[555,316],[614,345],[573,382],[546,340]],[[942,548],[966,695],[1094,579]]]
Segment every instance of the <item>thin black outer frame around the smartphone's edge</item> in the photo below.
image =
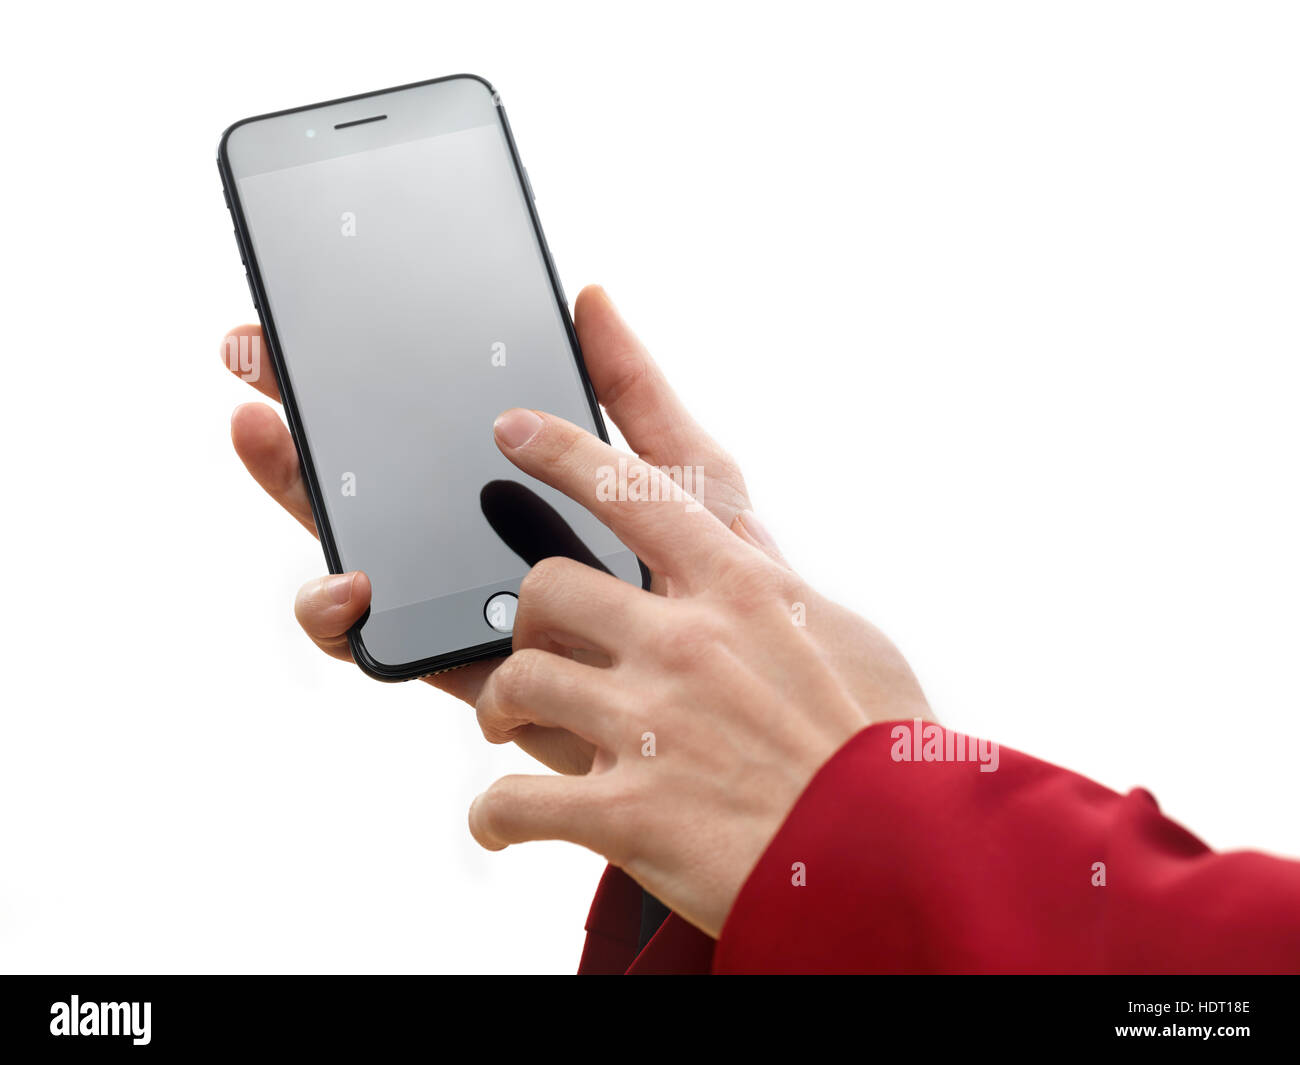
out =
[[[239,202],[239,189],[235,183],[234,172],[230,166],[228,144],[230,135],[237,129],[251,122],[260,122],[266,118],[278,118],[285,114],[303,114],[320,108],[351,103],[354,100],[368,100],[387,96],[394,92],[422,88],[424,86],[436,85],[438,82],[450,82],[464,78],[480,82],[488,92],[491,94],[493,104],[495,105],[497,112],[497,121],[500,122],[502,131],[506,135],[506,144],[510,147],[510,159],[515,168],[515,181],[519,183],[519,187],[524,194],[524,203],[528,207],[528,217],[533,224],[533,235],[542,251],[542,260],[546,264],[546,276],[550,280],[555,303],[560,309],[560,319],[564,322],[564,332],[568,337],[569,348],[573,352],[573,362],[577,367],[578,380],[582,382],[582,391],[592,411],[592,420],[601,440],[606,443],[610,442],[610,434],[604,428],[604,419],[601,415],[601,404],[597,402],[595,389],[592,388],[592,380],[588,377],[586,364],[582,360],[582,350],[578,346],[577,332],[573,328],[573,319],[569,315],[568,299],[564,295],[564,287],[560,285],[559,273],[555,270],[555,263],[551,259],[551,250],[546,243],[546,234],[542,231],[542,224],[537,216],[537,205],[533,202],[532,183],[524,172],[524,164],[519,159],[519,150],[515,146],[515,137],[510,129],[510,120],[506,117],[506,108],[500,103],[500,94],[497,92],[486,78],[477,74],[447,74],[441,78],[429,78],[422,82],[411,82],[408,85],[399,85],[391,88],[381,88],[376,92],[360,92],[355,96],[341,96],[337,100],[324,100],[321,103],[307,104],[304,107],[272,111],[265,114],[254,114],[248,118],[240,118],[238,122],[231,124],[225,133],[221,134],[221,142],[217,146],[217,169],[221,173],[221,185],[225,192],[226,207],[234,220],[235,238],[239,242],[239,257],[243,261],[246,276],[248,278],[248,286],[252,291],[254,308],[257,311],[257,320],[261,322],[263,339],[270,352],[270,363],[276,375],[276,384],[280,386],[280,397],[285,407],[285,420],[289,423],[289,432],[292,436],[294,446],[298,449],[298,459],[303,469],[303,481],[307,485],[307,494],[311,501],[312,518],[316,521],[321,547],[325,550],[325,562],[332,573],[343,572],[343,564],[339,559],[338,547],[335,545],[334,531],[330,528],[329,518],[326,516],[321,485],[316,476],[316,464],[312,462],[311,450],[307,447],[306,433],[302,432],[302,416],[298,411],[298,403],[294,399],[294,389],[289,381],[283,360],[280,358],[280,341],[276,335],[276,324],[270,312],[265,309],[266,293],[263,286],[261,272],[257,267],[256,256],[252,252],[252,241],[250,239],[243,207]],[[642,589],[649,589],[650,572],[646,570],[645,563],[640,559],[637,559],[637,564],[641,570],[641,586]],[[365,624],[365,619],[368,616],[369,611],[367,611],[360,620],[358,620],[358,623],[348,629],[347,641],[356,664],[377,680],[413,680],[421,676],[446,672],[447,670],[454,670],[460,666],[468,666],[471,662],[506,655],[511,651],[511,638],[503,637],[500,640],[490,640],[484,644],[477,644],[471,648],[463,648],[455,651],[430,655],[429,658],[422,658],[415,662],[407,662],[400,666],[390,666],[376,659],[365,646],[365,641],[361,638],[360,629],[361,625]]]

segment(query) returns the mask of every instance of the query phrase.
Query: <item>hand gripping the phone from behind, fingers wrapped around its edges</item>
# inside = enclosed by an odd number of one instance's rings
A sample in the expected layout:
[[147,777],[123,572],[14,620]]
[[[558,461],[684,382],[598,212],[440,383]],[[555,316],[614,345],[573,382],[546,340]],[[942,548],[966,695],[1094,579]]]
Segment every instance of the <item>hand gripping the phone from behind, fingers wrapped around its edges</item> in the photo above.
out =
[[[753,521],[754,528],[758,528],[753,515],[746,514],[750,503],[740,468],[686,412],[603,289],[589,286],[578,294],[575,326],[597,399],[628,443],[653,466],[703,467],[705,493],[699,502],[737,536],[759,544],[746,527],[746,523]],[[243,325],[231,330],[226,341],[231,337],[256,337],[260,342],[261,329]],[[224,343],[222,355],[226,351]],[[269,367],[263,367],[252,384],[264,395],[280,401],[276,377]],[[486,432],[486,427],[484,430]],[[298,451],[276,411],[264,403],[238,407],[230,421],[230,437],[254,480],[315,536],[316,525],[299,469]],[[759,531],[758,536],[764,533]],[[768,544],[764,550],[776,555],[775,545]],[[654,575],[651,588],[662,590],[663,580],[659,575]],[[370,583],[367,576],[343,573],[303,585],[298,593],[295,612],[299,624],[321,650],[334,658],[351,661],[347,631],[365,614],[369,603]],[[474,662],[425,677],[425,683],[473,703],[484,683],[502,661]],[[523,726],[508,733],[493,733],[491,739],[514,740],[546,766],[562,772],[586,772],[592,765],[592,745],[563,730]]]

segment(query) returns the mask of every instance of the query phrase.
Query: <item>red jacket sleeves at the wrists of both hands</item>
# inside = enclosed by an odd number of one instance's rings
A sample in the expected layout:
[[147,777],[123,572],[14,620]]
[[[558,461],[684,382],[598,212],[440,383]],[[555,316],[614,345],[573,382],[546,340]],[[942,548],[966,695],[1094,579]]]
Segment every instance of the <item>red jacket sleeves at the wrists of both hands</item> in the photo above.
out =
[[716,941],[671,914],[638,953],[641,889],[610,866],[578,971],[1300,971],[1300,862],[1216,854],[1148,792],[1005,748],[894,761],[900,727],[818,771]]

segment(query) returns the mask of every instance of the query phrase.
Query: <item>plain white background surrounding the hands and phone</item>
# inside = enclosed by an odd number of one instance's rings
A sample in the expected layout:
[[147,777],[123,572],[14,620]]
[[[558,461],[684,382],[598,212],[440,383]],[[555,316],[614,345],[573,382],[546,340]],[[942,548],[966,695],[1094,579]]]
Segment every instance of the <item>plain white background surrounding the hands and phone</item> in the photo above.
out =
[[221,130],[456,72],[946,723],[1300,854],[1294,12],[10,10],[0,967],[576,966],[601,860],[473,845],[528,759],[300,636],[228,438]]

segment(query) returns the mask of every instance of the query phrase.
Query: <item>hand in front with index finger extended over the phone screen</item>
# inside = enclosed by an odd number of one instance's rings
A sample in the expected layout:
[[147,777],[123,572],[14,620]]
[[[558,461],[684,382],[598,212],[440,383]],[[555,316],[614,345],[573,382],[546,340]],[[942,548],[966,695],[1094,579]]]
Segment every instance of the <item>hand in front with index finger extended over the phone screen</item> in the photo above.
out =
[[[506,776],[474,800],[484,847],[560,839],[624,869],[716,936],[741,886],[818,767],[872,722],[928,718],[897,650],[861,619],[852,649],[814,631],[848,611],[728,531],[658,469],[649,501],[598,498],[619,455],[551,415],[497,420],[500,450],[604,521],[660,575],[654,596],[568,559],[524,579],[515,653],[488,679],[490,737],[567,730],[595,749],[586,776]],[[706,471],[707,482],[707,471]],[[803,611],[800,611],[802,605]],[[806,616],[809,624],[796,619]],[[599,667],[573,661],[582,649]]]

